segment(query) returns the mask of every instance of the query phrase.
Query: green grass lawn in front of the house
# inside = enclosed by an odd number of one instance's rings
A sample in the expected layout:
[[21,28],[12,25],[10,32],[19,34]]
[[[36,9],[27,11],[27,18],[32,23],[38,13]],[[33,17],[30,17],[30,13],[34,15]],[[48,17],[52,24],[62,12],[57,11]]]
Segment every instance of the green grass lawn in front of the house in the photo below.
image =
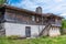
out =
[[7,37],[0,37],[0,44],[66,44],[66,35],[30,40],[8,40]]

